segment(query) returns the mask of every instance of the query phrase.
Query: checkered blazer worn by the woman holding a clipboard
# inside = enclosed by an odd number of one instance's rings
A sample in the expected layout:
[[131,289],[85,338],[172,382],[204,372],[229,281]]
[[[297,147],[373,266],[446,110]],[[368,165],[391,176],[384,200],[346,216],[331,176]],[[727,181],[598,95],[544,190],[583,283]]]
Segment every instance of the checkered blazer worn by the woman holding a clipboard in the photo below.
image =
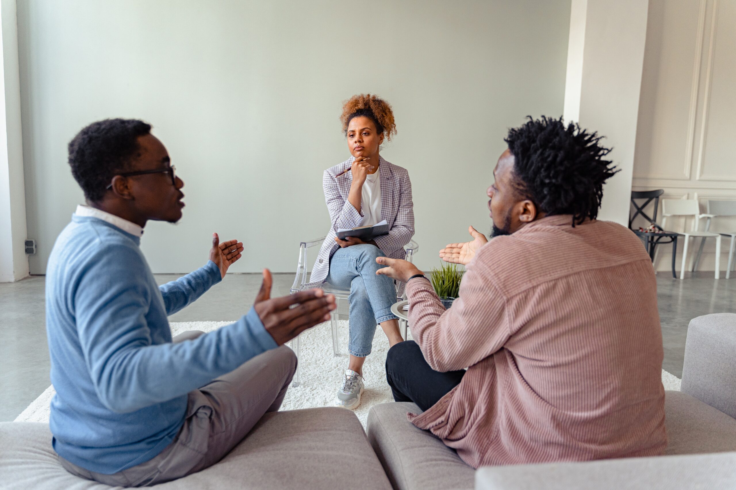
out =
[[[391,226],[387,235],[375,237],[378,248],[392,259],[404,258],[404,245],[414,236],[414,203],[411,202],[411,181],[405,168],[386,162],[379,156],[381,179],[381,219]],[[325,188],[325,201],[330,212],[330,232],[319,249],[312,275],[311,285],[316,286],[325,282],[330,270],[330,258],[340,248],[335,238],[337,228],[355,228],[361,226],[363,220],[363,206],[355,209],[347,201],[350,185],[353,184],[353,173],[347,170],[342,176],[336,175],[353,166],[355,158],[351,156],[347,161],[328,168],[322,176],[322,187]]]

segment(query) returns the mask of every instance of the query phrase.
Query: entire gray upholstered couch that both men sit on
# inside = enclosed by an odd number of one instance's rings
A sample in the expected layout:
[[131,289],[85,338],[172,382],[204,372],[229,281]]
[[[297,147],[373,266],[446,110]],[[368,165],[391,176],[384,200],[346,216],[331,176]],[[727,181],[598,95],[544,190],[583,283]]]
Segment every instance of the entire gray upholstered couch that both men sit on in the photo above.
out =
[[[418,412],[417,406],[385,403],[369,412],[367,434],[343,408],[266,414],[218,464],[152,488],[736,489],[735,354],[736,314],[690,322],[682,392],[666,393],[666,456],[476,472],[431,433],[407,422],[406,413]],[[0,488],[114,488],[68,474],[50,442],[46,424],[0,423]]]

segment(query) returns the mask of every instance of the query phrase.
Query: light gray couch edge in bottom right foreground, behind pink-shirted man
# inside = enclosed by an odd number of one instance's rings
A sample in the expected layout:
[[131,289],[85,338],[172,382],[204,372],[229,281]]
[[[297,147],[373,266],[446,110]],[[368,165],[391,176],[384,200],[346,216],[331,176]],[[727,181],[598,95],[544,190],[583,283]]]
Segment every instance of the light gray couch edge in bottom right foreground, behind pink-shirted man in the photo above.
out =
[[487,466],[476,490],[690,490],[736,488],[736,453]]

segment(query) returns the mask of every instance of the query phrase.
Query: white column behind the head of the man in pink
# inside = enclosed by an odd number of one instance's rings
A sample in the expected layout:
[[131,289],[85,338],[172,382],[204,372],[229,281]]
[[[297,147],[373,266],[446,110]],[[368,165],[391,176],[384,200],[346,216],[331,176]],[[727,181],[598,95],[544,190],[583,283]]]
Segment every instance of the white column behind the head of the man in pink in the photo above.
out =
[[598,217],[626,226],[646,41],[647,0],[573,0],[565,120],[606,138],[621,169],[604,187]]

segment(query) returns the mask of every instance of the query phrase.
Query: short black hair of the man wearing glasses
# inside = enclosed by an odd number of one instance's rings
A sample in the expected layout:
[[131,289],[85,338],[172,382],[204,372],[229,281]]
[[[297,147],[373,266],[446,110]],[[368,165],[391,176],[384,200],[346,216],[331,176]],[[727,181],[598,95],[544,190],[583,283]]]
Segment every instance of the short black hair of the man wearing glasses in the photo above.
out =
[[140,155],[138,137],[150,133],[151,125],[138,119],[99,120],[77,133],[68,145],[69,166],[87,201],[102,200],[113,177]]

